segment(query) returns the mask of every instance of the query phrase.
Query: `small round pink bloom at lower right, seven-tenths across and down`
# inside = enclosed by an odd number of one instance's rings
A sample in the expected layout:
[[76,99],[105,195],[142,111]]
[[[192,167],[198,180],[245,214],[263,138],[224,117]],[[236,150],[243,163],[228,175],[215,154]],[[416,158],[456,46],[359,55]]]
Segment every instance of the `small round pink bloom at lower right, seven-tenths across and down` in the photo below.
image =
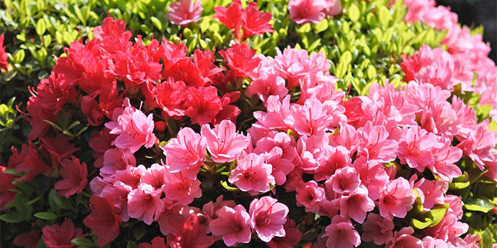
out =
[[326,182],[326,187],[336,193],[352,193],[359,187],[361,180],[354,167],[344,167],[335,171],[335,174]]

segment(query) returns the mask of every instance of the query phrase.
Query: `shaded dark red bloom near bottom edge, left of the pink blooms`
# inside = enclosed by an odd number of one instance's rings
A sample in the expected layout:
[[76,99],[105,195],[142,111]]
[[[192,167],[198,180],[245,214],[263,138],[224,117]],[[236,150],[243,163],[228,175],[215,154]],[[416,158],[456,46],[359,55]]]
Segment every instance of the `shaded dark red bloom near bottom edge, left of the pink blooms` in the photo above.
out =
[[99,237],[97,245],[103,247],[119,235],[119,230],[121,230],[119,226],[123,220],[116,213],[114,203],[109,196],[106,198],[92,196],[89,198],[89,202],[91,203],[91,213],[87,218],[84,218],[83,222]]

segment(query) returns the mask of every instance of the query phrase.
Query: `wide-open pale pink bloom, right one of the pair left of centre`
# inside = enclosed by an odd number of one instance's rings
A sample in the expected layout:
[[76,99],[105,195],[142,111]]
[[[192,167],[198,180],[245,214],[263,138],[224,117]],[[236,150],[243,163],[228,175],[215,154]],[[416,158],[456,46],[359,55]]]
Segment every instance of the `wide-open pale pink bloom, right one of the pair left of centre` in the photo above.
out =
[[217,163],[233,161],[250,143],[248,137],[236,132],[236,125],[230,120],[222,120],[214,129],[204,124],[201,134],[207,140],[212,160]]

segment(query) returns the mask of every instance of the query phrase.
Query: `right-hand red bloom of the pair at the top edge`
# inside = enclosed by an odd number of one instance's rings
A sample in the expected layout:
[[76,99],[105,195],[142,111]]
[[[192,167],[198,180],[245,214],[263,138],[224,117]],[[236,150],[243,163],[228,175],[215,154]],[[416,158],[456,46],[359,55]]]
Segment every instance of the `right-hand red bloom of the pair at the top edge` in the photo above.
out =
[[257,10],[257,3],[249,2],[247,9],[244,9],[241,15],[241,26],[244,28],[244,37],[242,40],[253,35],[262,35],[266,32],[273,33],[273,25],[269,21],[273,18],[271,13],[262,13]]

